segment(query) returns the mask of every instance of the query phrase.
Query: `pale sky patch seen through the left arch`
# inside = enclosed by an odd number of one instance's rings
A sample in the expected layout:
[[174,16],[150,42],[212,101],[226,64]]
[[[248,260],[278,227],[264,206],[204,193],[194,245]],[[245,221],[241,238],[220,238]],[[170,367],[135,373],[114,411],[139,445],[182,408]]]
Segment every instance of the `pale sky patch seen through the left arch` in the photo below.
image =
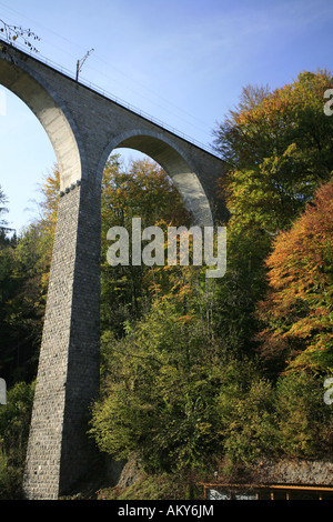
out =
[[0,185],[7,198],[3,214],[7,237],[39,217],[40,183],[57,162],[54,149],[43,127],[29,107],[13,92],[0,87],[4,111],[0,117]]

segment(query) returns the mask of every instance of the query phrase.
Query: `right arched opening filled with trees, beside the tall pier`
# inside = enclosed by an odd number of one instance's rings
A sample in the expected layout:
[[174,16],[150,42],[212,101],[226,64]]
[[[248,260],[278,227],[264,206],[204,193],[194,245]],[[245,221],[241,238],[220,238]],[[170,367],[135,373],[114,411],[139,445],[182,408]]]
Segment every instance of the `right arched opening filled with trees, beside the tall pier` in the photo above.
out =
[[[103,345],[105,332],[123,337],[127,323],[142,317],[152,299],[165,291],[171,271],[171,268],[162,268],[168,264],[168,229],[190,229],[193,215],[162,165],[150,155],[129,148],[117,148],[109,157],[102,178],[101,200]],[[109,234],[110,231],[112,235],[117,234],[120,230],[127,237],[128,245],[118,250],[119,235],[111,238]],[[149,230],[151,241],[145,237]],[[149,244],[154,247],[148,261],[145,252],[150,250]],[[111,250],[117,258],[115,265],[109,258]],[[119,257],[122,261],[118,263]]]

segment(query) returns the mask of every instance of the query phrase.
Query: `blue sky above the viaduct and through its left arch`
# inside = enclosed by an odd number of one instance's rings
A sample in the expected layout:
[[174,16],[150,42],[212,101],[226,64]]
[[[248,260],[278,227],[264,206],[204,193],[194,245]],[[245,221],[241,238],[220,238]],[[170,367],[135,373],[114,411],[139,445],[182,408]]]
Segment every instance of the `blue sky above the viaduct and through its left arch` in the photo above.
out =
[[[332,0],[0,0],[0,18],[34,31],[40,54],[73,74],[93,48],[84,80],[204,144],[244,86],[333,70]],[[30,110],[6,101],[0,185],[20,230],[56,155]]]

